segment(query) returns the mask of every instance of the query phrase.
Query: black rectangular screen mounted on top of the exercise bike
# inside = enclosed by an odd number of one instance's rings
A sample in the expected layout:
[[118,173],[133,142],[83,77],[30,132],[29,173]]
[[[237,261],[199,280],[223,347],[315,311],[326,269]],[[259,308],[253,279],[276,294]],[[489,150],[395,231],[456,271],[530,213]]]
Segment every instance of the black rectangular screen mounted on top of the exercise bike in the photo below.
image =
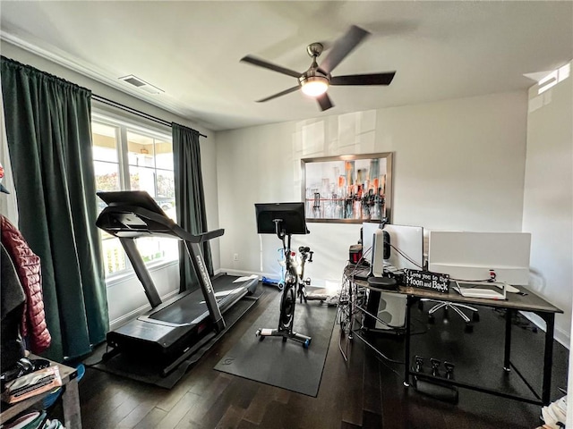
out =
[[257,233],[276,234],[274,222],[280,219],[280,226],[286,234],[307,234],[304,203],[256,203],[254,205]]

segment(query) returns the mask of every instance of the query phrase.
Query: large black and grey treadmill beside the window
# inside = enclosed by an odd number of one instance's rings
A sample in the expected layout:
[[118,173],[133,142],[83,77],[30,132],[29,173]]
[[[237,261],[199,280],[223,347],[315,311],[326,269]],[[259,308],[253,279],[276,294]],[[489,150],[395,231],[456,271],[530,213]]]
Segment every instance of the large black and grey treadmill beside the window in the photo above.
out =
[[[185,359],[204,351],[210,341],[216,341],[226,331],[223,314],[246,295],[252,295],[259,278],[251,276],[244,280],[225,273],[210,278],[201,243],[220,237],[225,230],[193,235],[167,217],[145,191],[98,192],[97,195],[107,207],[99,214],[96,225],[120,240],[151,305],[147,313],[107,332],[107,346],[111,350],[103,358],[107,360],[122,353],[138,361],[149,361],[166,376]],[[159,298],[135,245],[136,239],[150,236],[183,240],[200,289],[181,292],[166,302]],[[252,297],[246,298],[251,298],[252,304],[256,302]]]

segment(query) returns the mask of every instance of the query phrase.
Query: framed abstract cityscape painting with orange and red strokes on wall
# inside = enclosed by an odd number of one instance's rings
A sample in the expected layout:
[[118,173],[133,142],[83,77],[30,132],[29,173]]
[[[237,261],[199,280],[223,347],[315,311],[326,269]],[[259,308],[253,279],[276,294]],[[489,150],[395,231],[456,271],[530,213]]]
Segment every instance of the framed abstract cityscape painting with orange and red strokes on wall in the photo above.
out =
[[391,152],[301,160],[306,222],[391,221]]

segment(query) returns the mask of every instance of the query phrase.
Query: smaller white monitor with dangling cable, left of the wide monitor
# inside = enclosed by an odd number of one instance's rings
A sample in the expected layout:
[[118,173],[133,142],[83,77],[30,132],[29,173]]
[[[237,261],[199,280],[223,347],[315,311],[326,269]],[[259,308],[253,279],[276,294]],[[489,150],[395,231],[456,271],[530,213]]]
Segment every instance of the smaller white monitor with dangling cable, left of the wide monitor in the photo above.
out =
[[423,227],[386,224],[384,231],[388,232],[390,243],[386,264],[399,270],[423,269]]

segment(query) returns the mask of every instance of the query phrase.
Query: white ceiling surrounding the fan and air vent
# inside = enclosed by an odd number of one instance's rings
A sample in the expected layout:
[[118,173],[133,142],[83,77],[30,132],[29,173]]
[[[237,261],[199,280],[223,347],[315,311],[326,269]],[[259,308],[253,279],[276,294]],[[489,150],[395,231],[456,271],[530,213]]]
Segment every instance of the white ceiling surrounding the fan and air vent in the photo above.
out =
[[[229,130],[526,89],[525,73],[573,57],[571,1],[64,1],[0,3],[0,36],[201,124]],[[240,63],[255,55],[295,71],[306,46],[355,24],[372,33],[332,75],[397,71],[389,87],[331,87],[321,113],[300,92],[255,103],[295,78]],[[318,63],[321,63],[319,58]],[[150,95],[118,80],[133,74]]]

